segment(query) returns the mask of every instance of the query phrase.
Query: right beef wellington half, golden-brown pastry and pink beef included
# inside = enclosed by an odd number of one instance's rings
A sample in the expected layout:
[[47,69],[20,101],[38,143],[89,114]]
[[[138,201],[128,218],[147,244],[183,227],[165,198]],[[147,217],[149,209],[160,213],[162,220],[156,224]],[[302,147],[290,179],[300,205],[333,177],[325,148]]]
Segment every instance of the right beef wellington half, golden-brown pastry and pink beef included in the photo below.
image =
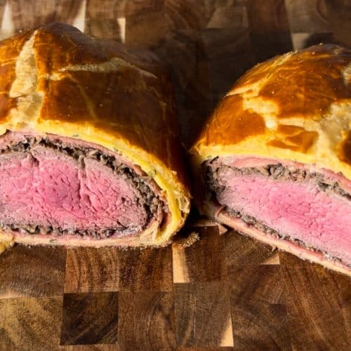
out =
[[351,51],[318,45],[253,67],[190,153],[202,213],[351,275]]

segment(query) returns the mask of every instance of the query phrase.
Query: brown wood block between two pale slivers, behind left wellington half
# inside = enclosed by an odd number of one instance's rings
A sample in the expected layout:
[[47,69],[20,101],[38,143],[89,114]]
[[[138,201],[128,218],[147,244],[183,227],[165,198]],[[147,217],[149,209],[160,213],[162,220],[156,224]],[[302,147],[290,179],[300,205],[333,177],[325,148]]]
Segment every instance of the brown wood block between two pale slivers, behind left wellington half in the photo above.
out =
[[8,0],[15,30],[29,29],[50,22],[73,23],[82,0]]

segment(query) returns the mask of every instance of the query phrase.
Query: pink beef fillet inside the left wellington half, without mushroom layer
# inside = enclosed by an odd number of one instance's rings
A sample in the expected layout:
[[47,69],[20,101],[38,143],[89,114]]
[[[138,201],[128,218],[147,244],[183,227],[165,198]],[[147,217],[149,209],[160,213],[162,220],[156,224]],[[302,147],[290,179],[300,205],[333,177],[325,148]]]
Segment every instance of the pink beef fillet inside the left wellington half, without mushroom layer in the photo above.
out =
[[41,145],[0,154],[0,223],[135,232],[146,222],[133,184],[97,160]]

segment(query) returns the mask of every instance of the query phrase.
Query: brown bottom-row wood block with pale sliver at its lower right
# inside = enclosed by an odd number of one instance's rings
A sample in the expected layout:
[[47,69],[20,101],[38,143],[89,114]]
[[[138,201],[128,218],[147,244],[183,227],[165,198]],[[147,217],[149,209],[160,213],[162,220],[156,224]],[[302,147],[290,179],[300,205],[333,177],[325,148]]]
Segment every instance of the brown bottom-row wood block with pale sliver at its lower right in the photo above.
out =
[[178,347],[232,346],[230,301],[225,284],[175,284],[174,294]]

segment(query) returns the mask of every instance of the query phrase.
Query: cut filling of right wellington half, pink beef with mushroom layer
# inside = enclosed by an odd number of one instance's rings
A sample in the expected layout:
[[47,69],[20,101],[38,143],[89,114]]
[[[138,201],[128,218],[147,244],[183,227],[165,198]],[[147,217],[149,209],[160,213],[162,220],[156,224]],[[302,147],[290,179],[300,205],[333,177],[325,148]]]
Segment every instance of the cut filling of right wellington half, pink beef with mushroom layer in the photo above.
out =
[[216,158],[204,170],[218,215],[351,265],[349,180],[272,159]]

